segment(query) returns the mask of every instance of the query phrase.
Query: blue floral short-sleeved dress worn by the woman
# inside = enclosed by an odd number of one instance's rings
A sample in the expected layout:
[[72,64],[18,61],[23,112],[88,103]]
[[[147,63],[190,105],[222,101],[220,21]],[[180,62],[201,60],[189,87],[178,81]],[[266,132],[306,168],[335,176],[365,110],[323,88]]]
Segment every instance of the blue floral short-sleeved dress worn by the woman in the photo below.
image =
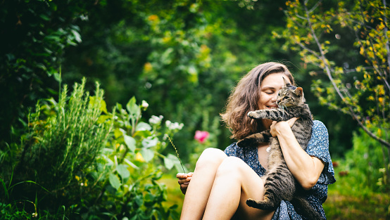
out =
[[[225,153],[228,156],[239,157],[244,160],[246,164],[251,167],[258,176],[265,174],[264,167],[261,166],[258,160],[258,150],[256,147],[239,148],[236,143],[232,143],[225,149]],[[322,208],[322,203],[327,200],[327,185],[334,183],[334,169],[332,165],[332,159],[329,154],[329,138],[327,128],[325,124],[315,120],[313,124],[313,132],[306,148],[306,153],[311,156],[315,156],[325,162],[325,167],[322,170],[320,178],[315,186],[308,192],[308,202],[312,205],[317,212],[319,212],[325,219],[325,212]],[[297,214],[293,205],[288,201],[282,201],[279,207],[276,209],[272,220],[284,220],[284,219],[306,219],[305,216]]]

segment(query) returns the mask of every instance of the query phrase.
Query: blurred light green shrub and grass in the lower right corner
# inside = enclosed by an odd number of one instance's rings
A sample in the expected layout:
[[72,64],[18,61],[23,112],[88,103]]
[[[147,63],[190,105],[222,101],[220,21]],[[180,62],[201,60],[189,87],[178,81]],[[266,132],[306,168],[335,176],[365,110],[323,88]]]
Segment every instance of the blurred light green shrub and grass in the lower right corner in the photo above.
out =
[[[360,129],[353,133],[353,148],[335,160],[337,182],[329,186],[324,204],[328,219],[389,219],[389,166],[384,146]],[[390,167],[389,167],[390,168]]]

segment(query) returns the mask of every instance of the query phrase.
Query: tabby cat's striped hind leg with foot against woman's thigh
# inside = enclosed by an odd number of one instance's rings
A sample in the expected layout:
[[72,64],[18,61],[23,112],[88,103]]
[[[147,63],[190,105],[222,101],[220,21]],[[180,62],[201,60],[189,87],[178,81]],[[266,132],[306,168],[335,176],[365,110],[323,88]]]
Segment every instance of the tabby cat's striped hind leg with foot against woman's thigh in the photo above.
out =
[[282,200],[292,200],[295,192],[294,176],[287,166],[278,166],[267,174],[264,188],[263,200],[249,199],[246,204],[257,209],[275,210]]

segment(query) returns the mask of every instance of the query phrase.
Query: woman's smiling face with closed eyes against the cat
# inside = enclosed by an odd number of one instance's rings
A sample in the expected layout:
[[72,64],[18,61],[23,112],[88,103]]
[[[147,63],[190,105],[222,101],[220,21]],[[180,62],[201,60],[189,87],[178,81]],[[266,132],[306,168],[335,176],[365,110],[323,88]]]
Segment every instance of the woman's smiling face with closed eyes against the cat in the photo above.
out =
[[[260,110],[277,108],[277,92],[284,86],[283,77],[288,79],[283,73],[272,73],[263,79],[260,86],[260,99],[258,100]],[[272,121],[263,119],[263,124],[266,128],[269,128]]]

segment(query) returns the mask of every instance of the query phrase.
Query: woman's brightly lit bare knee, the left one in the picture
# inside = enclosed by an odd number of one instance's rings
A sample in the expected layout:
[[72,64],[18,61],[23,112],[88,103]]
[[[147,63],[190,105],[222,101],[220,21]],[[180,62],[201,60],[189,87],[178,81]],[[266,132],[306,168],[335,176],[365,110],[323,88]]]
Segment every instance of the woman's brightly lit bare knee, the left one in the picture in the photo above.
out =
[[196,162],[196,168],[219,167],[221,162],[227,158],[227,155],[218,148],[207,148]]

